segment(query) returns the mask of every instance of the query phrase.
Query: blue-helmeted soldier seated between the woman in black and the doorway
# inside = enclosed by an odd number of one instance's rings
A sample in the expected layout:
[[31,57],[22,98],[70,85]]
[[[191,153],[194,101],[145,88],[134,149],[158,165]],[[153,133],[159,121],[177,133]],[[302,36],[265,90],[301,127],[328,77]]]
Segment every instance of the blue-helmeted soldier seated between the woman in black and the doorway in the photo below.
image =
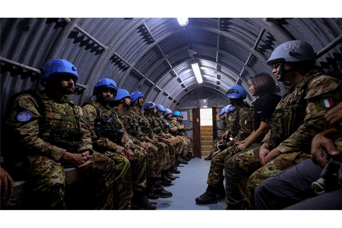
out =
[[244,102],[246,91],[239,85],[234,85],[227,90],[229,103],[235,106],[236,111],[232,115],[231,124],[228,131],[233,136],[229,142],[226,141],[228,148],[223,151],[216,151],[211,159],[210,170],[208,174],[208,188],[205,193],[196,198],[198,204],[217,203],[218,195],[225,196],[225,188],[223,186],[223,170],[224,164],[228,159],[233,159],[238,152],[235,151],[235,142],[239,142],[247,138],[253,131],[253,108]]

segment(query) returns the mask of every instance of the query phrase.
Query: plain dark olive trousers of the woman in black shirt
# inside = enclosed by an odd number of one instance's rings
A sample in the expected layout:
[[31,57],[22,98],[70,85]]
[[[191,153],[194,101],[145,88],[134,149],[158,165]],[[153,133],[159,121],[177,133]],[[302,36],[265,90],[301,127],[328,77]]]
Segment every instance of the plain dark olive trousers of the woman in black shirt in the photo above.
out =
[[252,143],[245,150],[237,152],[235,155],[228,155],[224,159],[224,173],[226,179],[226,203],[230,210],[242,210],[244,209],[244,203],[242,201],[242,196],[237,185],[237,176],[235,169],[233,167],[233,160],[236,156],[249,151],[253,148],[260,147],[260,143]]

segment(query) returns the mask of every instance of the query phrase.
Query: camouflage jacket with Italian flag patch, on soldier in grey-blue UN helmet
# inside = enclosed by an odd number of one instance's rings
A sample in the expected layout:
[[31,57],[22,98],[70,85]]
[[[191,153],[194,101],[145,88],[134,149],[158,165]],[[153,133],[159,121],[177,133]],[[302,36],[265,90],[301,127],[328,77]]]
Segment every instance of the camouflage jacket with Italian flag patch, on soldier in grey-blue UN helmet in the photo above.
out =
[[277,147],[280,153],[310,154],[312,138],[329,129],[324,115],[341,101],[341,83],[319,69],[305,75],[282,96],[268,120],[270,130],[263,142],[269,144],[269,149]]

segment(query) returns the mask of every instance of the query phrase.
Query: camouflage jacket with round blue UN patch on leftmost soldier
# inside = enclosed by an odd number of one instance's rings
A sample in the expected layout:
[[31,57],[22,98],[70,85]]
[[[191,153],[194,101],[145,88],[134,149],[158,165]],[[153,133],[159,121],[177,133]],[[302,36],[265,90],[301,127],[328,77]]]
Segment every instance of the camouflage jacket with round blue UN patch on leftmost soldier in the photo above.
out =
[[[14,129],[15,144],[24,157],[46,156],[54,161],[65,152],[93,152],[90,132],[82,108],[64,96],[62,102],[49,97],[44,90],[27,90],[12,96],[6,124]],[[19,158],[20,157],[20,158]]]

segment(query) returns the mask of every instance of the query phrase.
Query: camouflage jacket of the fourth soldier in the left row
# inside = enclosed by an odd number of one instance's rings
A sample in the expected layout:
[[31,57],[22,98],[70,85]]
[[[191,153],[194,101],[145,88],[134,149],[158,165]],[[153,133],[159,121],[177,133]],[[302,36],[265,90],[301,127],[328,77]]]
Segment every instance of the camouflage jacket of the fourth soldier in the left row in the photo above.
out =
[[144,114],[140,110],[135,111],[135,109],[132,106],[127,110],[127,112],[131,116],[132,120],[139,123],[142,135],[138,136],[137,138],[139,140],[146,139],[146,141],[148,139],[152,139],[153,130],[151,125],[149,124],[148,119],[146,119]]

